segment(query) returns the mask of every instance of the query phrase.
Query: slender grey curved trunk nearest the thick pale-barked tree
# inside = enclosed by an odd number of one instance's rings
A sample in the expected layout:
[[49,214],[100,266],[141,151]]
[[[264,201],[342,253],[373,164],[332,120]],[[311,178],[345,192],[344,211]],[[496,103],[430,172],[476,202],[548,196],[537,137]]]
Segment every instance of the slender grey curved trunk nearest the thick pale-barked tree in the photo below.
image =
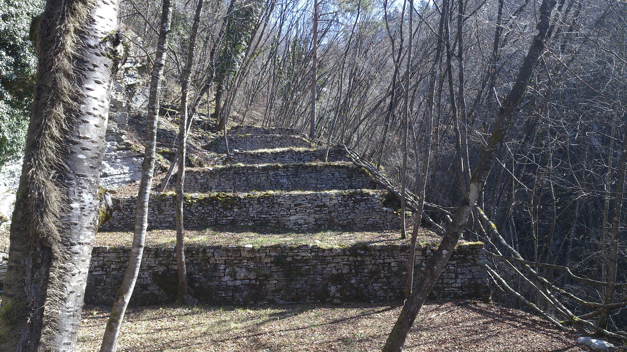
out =
[[170,31],[172,21],[172,11],[170,0],[163,0],[163,10],[161,13],[161,29],[159,30],[159,41],[157,42],[157,52],[155,53],[154,66],[152,67],[152,77],[150,78],[150,94],[148,97],[148,115],[146,117],[146,140],[145,154],[142,162],[142,180],[139,184],[137,194],[137,213],[135,215],[135,229],[133,236],[133,246],[130,249],[129,265],[126,268],[122,285],[120,286],[111,314],[107,321],[107,328],[102,338],[100,352],[115,352],[115,346],[120,335],[120,327],[124,319],[124,313],[129,305],[130,296],[137,281],[139,267],[144,254],[144,241],[146,229],[148,227],[148,204],[150,199],[150,189],[152,188],[152,178],[154,175],[156,145],[157,145],[157,121],[159,117],[159,93],[161,93],[161,76],[164,70],[164,53],[167,49],[167,34]]

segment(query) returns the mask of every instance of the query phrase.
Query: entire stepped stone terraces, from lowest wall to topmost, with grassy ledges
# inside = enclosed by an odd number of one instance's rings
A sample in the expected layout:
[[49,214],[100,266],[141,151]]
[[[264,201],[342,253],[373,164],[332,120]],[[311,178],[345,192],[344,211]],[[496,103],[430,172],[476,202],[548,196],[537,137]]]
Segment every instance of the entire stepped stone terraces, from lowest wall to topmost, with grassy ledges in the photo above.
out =
[[[238,126],[227,135],[232,155],[222,158],[222,165],[190,168],[185,179],[184,223],[192,242],[186,249],[187,277],[199,301],[403,297],[409,246],[398,241],[399,202],[377,189],[344,150],[331,148],[327,154],[287,128]],[[224,147],[223,138],[216,138],[204,148]],[[144,252],[133,304],[171,302],[176,294],[176,254],[164,240],[174,239],[174,198],[170,192],[150,199],[152,242]],[[121,239],[132,237],[136,200],[129,192],[113,198],[112,219],[100,227],[101,246],[92,252],[87,303],[110,304],[115,297],[130,252],[130,240]],[[239,234],[243,238],[236,239]],[[102,242],[107,237],[117,242]],[[425,237],[416,247],[418,271],[437,241]],[[483,244],[460,244],[433,297],[487,298],[487,277]]]

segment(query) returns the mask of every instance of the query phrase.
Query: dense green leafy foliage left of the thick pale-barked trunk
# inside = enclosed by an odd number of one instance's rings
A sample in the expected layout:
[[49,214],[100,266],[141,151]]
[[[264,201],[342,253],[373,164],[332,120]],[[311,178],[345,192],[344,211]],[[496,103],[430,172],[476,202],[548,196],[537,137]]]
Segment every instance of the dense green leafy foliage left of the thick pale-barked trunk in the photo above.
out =
[[39,0],[0,0],[0,166],[23,152],[36,69],[29,40]]

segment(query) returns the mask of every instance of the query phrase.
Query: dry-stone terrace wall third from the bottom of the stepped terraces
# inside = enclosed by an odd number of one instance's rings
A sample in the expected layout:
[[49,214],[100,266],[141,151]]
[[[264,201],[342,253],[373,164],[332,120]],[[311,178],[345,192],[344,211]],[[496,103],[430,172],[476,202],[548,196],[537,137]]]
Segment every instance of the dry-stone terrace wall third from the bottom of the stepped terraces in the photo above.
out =
[[[173,177],[171,184],[176,183]],[[372,189],[375,184],[352,163],[302,163],[288,165],[226,165],[188,169],[185,191],[250,192],[251,190],[351,190]]]

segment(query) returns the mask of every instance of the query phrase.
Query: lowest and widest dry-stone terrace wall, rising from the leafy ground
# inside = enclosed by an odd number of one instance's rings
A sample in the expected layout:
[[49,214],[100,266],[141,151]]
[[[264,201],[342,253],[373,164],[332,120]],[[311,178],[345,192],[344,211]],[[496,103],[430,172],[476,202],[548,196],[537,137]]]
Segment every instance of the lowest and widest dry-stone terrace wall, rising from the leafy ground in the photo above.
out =
[[[434,249],[416,250],[416,270]],[[124,277],[130,247],[95,247],[85,302],[110,305]],[[187,247],[187,276],[194,297],[208,304],[396,301],[403,299],[408,246]],[[144,250],[131,304],[170,303],[176,297],[173,248]],[[416,275],[418,281],[418,275]],[[490,296],[482,244],[457,247],[431,298]]]

